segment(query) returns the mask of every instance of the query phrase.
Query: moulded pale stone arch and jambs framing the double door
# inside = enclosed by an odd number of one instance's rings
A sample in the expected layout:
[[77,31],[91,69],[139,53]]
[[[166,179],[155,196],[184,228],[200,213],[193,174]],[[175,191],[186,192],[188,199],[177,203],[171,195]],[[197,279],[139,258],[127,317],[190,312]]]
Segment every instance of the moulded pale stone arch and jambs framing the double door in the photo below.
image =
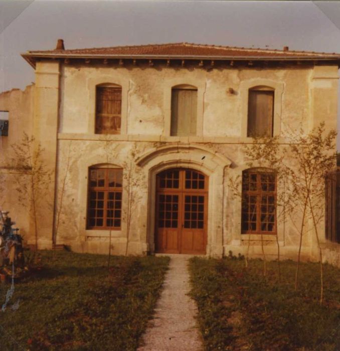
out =
[[174,143],[149,149],[139,155],[135,161],[142,167],[148,179],[145,241],[150,251],[154,251],[156,174],[168,168],[191,168],[209,177],[207,255],[221,256],[223,253],[224,169],[231,165],[231,160],[206,146]]

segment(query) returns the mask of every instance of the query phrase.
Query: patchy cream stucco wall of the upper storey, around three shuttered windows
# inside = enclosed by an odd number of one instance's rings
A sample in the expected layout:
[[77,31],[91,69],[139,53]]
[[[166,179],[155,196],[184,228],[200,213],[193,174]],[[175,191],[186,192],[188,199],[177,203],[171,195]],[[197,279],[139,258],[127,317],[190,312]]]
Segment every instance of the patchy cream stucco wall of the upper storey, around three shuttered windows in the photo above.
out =
[[[250,86],[282,84],[282,96],[275,96],[281,101],[281,128],[306,128],[311,109],[312,72],[312,68],[230,68],[207,72],[200,68],[65,66],[61,75],[59,131],[94,132],[91,121],[95,116],[95,86],[101,83],[122,86],[122,120],[127,119],[128,134],[169,135],[165,124],[169,119],[171,88],[181,83],[197,86],[199,94],[202,90],[204,100],[199,99],[198,105],[202,105],[204,136],[242,135],[242,118],[247,117],[243,96],[248,98],[248,88],[241,84],[244,82]],[[234,90],[233,94],[228,93],[229,88]]]

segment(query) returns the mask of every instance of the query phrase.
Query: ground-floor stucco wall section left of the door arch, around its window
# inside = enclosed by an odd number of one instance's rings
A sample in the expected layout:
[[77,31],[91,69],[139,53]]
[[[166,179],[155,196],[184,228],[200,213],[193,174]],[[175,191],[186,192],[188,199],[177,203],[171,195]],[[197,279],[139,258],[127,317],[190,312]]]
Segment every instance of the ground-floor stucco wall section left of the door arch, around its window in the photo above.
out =
[[[88,167],[105,164],[111,168],[123,168],[123,199],[122,199],[122,228],[112,230],[112,252],[125,254],[126,227],[127,227],[127,202],[128,202],[128,176],[129,173],[138,172],[131,164],[131,152],[143,151],[150,143],[133,142],[109,142],[96,141],[94,147],[92,141],[60,140],[58,186],[57,186],[57,211],[56,223],[57,242],[71,245],[79,251],[107,253],[110,231],[86,230],[87,187]],[[86,155],[79,157],[80,154]],[[64,187],[63,187],[64,185]],[[137,186],[133,186],[135,198],[133,205],[133,218],[130,222],[130,253],[146,252],[146,196],[147,181],[138,178]],[[59,220],[58,220],[59,217]],[[144,245],[141,244],[144,242]]]

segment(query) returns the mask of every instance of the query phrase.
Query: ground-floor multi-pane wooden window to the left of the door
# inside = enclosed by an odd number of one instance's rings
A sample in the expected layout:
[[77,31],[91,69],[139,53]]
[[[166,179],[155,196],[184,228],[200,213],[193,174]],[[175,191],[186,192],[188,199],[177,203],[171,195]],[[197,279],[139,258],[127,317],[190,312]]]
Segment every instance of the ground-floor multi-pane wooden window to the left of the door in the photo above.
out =
[[123,170],[89,168],[87,229],[120,229]]

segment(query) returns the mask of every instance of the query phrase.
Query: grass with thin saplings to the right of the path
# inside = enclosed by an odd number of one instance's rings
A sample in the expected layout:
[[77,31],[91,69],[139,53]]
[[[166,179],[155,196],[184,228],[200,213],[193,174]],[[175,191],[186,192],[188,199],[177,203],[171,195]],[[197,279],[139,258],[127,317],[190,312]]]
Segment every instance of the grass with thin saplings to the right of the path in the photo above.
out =
[[340,269],[324,265],[324,303],[319,299],[319,264],[194,258],[192,295],[206,350],[340,350]]

